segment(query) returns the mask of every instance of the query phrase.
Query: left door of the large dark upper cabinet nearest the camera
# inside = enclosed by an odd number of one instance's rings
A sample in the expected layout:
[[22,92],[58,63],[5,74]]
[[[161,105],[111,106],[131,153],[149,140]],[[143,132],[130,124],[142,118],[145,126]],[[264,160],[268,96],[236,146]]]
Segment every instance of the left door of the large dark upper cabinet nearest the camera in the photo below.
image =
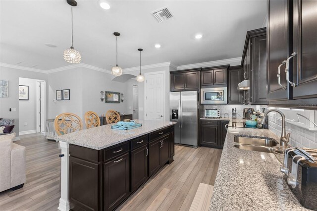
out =
[[[267,22],[267,100],[288,100],[292,89],[285,79],[285,65],[280,71],[282,89],[277,83],[277,68],[290,56],[289,50],[289,13],[291,1],[269,0]],[[290,75],[292,75],[290,68]]]

